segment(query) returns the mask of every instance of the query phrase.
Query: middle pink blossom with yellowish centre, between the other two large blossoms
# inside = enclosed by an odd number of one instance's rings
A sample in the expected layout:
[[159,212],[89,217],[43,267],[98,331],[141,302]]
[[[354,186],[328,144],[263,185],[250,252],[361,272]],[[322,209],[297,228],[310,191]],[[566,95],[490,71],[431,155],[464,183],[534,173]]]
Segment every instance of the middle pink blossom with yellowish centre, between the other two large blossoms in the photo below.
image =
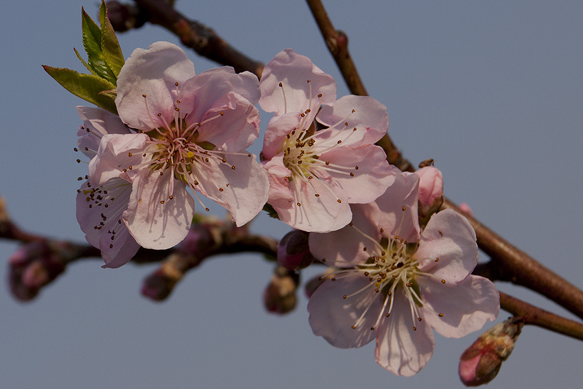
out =
[[302,231],[335,231],[350,222],[349,204],[371,202],[392,184],[385,153],[373,144],[388,128],[383,104],[353,95],[336,100],[331,75],[292,49],[265,66],[259,86],[259,105],[275,113],[262,164],[267,202],[280,220]]

